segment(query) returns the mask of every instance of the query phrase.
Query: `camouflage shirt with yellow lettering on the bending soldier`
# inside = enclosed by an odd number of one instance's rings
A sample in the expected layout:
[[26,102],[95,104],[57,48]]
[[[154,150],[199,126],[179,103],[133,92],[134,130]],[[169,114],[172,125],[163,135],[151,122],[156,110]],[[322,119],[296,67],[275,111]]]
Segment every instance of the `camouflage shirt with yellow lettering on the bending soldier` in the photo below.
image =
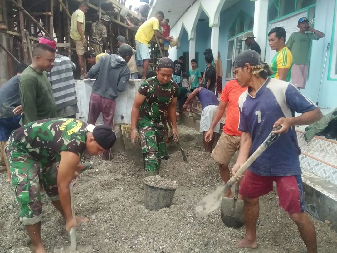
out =
[[60,162],[62,151],[81,156],[85,149],[87,123],[79,119],[42,119],[15,130],[9,137],[9,150],[20,150],[41,164]]

